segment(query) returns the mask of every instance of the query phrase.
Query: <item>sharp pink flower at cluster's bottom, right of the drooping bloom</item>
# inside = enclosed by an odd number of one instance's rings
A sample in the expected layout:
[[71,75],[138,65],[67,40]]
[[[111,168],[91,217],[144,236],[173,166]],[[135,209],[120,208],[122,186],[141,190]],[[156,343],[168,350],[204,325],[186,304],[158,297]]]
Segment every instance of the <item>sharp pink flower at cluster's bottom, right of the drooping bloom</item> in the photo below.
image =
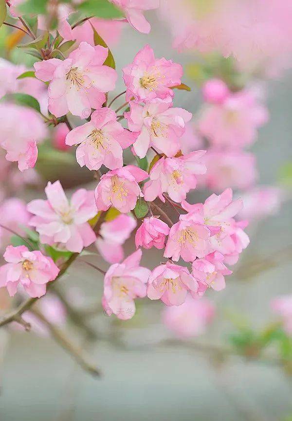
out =
[[149,276],[147,296],[150,300],[161,299],[167,306],[180,306],[188,291],[196,293],[198,283],[186,267],[168,261],[157,266]]

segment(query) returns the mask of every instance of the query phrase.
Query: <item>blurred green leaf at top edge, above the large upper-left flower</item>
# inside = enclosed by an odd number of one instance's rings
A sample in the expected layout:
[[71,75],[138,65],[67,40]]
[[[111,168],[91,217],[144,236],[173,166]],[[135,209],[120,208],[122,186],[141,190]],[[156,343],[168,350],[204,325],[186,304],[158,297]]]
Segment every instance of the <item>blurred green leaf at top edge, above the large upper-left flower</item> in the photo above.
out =
[[115,19],[122,18],[122,11],[108,0],[86,0],[77,8],[85,15],[93,15],[97,18]]

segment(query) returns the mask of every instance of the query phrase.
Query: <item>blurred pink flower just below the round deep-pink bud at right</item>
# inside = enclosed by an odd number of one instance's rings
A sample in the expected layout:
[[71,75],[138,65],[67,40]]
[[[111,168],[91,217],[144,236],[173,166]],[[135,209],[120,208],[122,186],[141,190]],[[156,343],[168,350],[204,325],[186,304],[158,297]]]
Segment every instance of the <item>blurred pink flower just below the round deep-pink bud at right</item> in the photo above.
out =
[[268,121],[268,111],[258,104],[252,92],[230,93],[225,101],[202,110],[199,129],[215,146],[251,145],[257,128]]

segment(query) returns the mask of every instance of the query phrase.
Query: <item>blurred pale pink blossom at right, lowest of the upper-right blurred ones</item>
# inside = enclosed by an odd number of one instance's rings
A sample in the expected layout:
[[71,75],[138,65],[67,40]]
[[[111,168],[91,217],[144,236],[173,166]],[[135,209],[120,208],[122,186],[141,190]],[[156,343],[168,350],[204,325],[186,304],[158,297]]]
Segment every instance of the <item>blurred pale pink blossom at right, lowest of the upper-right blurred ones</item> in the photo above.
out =
[[247,220],[275,215],[280,209],[283,192],[274,186],[256,186],[240,195],[243,208],[239,217]]

